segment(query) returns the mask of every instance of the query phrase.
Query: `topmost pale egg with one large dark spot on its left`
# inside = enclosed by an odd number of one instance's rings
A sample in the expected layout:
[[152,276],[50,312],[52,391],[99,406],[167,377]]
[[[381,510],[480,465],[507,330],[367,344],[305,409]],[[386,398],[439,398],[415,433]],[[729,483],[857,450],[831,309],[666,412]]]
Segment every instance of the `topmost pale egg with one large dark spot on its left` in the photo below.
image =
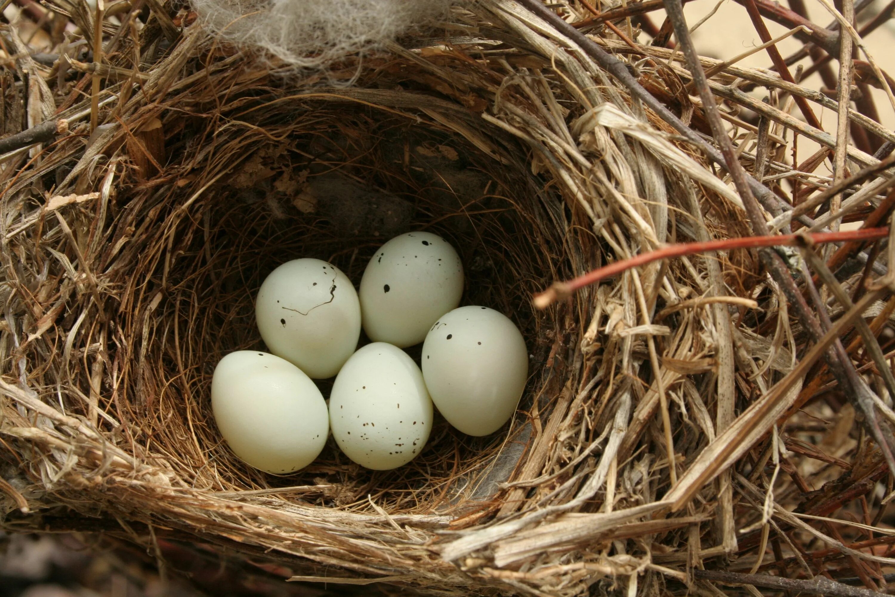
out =
[[463,263],[439,235],[411,232],[379,247],[361,280],[363,329],[375,342],[419,344],[460,304]]

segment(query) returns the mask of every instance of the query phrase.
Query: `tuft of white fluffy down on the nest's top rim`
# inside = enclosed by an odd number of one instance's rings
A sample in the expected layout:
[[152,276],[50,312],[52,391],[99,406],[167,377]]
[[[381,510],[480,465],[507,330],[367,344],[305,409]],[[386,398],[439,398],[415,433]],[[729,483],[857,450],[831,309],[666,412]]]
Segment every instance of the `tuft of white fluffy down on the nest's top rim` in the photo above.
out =
[[202,21],[234,43],[318,69],[379,47],[444,14],[452,0],[192,0]]

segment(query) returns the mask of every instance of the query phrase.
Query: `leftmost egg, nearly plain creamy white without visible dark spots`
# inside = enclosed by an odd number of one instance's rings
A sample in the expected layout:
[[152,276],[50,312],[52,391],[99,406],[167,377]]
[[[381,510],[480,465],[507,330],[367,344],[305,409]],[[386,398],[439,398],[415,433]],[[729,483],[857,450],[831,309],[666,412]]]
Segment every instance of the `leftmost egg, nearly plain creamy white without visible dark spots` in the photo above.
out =
[[230,449],[268,473],[310,465],[327,441],[327,403],[307,375],[268,353],[227,354],[211,380],[211,410]]

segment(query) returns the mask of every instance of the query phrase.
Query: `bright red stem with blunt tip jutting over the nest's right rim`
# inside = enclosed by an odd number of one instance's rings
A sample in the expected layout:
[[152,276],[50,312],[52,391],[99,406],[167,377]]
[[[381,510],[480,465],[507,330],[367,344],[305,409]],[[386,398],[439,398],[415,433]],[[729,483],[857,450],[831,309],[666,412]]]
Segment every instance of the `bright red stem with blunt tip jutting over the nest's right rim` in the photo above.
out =
[[861,230],[847,230],[841,232],[817,232],[813,234],[795,235],[769,235],[769,236],[741,236],[739,238],[726,238],[706,243],[680,243],[670,244],[656,251],[635,255],[626,260],[616,261],[602,268],[593,269],[584,276],[575,277],[567,282],[554,282],[550,288],[533,297],[534,306],[545,309],[560,298],[565,298],[575,293],[576,290],[590,286],[600,280],[617,276],[627,269],[636,268],[652,261],[673,259],[684,255],[712,251],[731,251],[733,249],[756,249],[759,247],[800,246],[808,244],[863,242],[889,235],[889,228],[863,228]]

